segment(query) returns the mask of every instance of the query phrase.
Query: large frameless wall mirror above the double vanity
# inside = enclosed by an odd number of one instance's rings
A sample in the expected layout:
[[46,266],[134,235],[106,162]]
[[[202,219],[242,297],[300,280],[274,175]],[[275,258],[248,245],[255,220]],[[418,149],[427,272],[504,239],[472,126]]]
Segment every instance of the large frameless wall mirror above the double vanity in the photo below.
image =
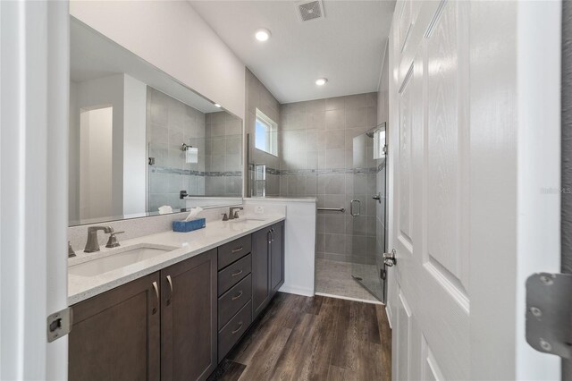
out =
[[73,17],[70,73],[71,226],[240,202],[240,118]]

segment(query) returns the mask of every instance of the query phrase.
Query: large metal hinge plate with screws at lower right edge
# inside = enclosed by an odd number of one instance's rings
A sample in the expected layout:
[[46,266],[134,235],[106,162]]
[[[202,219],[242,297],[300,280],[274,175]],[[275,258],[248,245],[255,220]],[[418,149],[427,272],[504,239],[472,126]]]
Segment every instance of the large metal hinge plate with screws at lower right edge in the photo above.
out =
[[526,279],[526,342],[536,351],[572,359],[572,275],[539,273]]

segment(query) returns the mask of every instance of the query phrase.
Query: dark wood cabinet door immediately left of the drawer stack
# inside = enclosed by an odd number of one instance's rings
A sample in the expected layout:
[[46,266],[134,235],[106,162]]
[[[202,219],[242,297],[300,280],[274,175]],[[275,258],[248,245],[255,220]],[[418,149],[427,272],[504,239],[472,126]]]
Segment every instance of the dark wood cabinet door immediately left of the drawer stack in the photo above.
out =
[[216,249],[161,270],[161,379],[204,380],[216,368]]

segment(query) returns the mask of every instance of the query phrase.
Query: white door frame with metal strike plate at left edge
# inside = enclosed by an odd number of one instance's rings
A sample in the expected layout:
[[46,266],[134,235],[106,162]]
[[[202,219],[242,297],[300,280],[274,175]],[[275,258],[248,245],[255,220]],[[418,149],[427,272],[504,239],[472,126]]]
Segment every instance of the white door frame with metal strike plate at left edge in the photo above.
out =
[[0,2],[0,379],[67,378],[69,12]]

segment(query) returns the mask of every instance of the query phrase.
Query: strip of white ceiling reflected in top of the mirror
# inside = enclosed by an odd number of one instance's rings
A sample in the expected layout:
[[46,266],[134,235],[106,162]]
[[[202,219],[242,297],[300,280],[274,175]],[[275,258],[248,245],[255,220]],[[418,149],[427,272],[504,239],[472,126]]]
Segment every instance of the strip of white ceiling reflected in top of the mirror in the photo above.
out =
[[203,113],[222,110],[151,63],[71,17],[70,80],[82,82],[119,73],[129,74]]

